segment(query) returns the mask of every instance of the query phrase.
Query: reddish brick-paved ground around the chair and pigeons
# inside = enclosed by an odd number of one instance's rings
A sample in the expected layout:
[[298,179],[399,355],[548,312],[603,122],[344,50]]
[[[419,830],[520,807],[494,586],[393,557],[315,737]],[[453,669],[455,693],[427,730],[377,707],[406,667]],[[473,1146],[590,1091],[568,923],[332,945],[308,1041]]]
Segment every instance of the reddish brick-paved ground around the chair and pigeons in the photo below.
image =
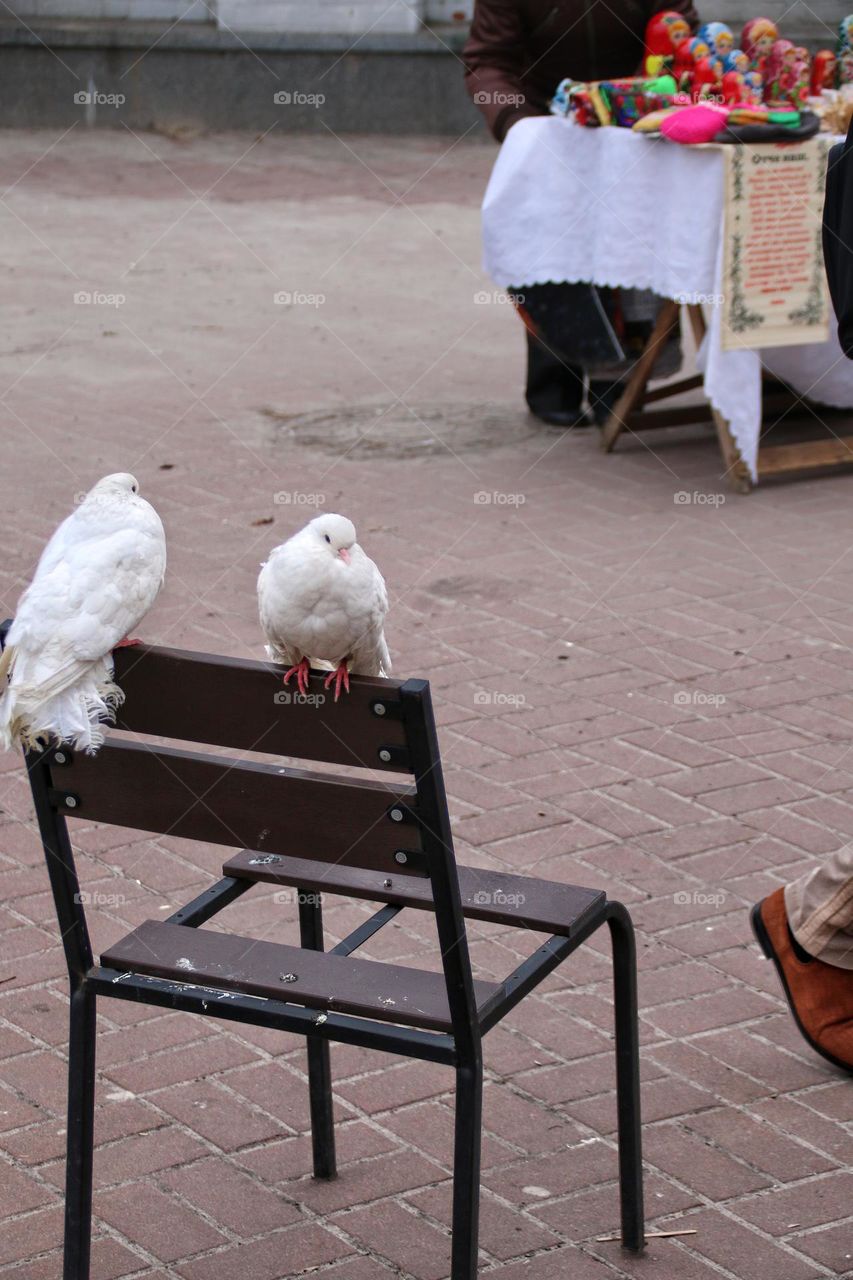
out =
[[[594,942],[487,1041],[483,1272],[853,1275],[853,1094],[747,927],[756,897],[853,837],[850,481],[734,499],[702,431],[606,460],[535,428],[517,324],[474,302],[488,147],[248,146],[0,137],[3,609],[73,495],[132,468],[170,545],[145,636],[259,655],[257,564],[306,513],[274,495],[348,512],[388,577],[397,672],[435,690],[460,858],[601,884],[634,913],[649,1219],[695,1231],[643,1261],[599,1239],[617,1215]],[[0,768],[0,1276],[51,1280],[63,960],[20,767]],[[99,946],[222,860],[115,829],[76,847]],[[286,937],[282,913],[259,892],[231,920]],[[330,932],[361,914],[333,905]],[[368,954],[419,963],[426,937],[403,916]],[[471,940],[488,977],[529,945]],[[347,1047],[333,1070],[342,1170],[315,1185],[296,1042],[110,1007],[97,1280],[447,1276],[448,1074]]]

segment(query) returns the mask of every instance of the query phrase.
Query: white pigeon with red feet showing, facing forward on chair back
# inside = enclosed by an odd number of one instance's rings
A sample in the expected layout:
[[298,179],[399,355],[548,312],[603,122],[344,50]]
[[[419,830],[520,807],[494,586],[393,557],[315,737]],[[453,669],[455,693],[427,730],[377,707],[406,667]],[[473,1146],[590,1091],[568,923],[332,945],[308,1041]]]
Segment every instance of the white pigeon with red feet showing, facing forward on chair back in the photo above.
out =
[[316,663],[333,668],[325,687],[334,681],[336,703],[342,685],[350,692],[350,672],[391,675],[386,584],[346,516],[316,516],[277,547],[261,566],[257,604],[266,652],[288,667],[286,685],[296,676],[301,694]]

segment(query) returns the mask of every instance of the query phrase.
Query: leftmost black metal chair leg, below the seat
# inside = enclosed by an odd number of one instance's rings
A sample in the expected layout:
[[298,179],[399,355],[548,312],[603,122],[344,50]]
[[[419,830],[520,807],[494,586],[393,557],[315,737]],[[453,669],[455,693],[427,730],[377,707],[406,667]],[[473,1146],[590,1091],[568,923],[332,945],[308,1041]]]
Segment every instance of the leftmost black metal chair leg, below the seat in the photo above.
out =
[[63,1280],[88,1280],[93,1142],[95,996],[82,984],[70,997]]

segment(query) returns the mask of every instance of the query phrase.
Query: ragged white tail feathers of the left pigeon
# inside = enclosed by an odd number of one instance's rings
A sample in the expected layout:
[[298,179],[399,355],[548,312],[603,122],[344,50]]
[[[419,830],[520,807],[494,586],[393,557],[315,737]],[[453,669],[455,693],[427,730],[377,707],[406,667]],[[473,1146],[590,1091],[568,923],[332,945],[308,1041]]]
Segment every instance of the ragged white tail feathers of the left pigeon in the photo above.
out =
[[27,680],[26,657],[12,668],[12,684],[0,698],[0,745],[14,742],[38,750],[50,741],[96,751],[104,741],[104,721],[115,719],[124,694],[113,680],[110,658],[73,663],[36,684]]

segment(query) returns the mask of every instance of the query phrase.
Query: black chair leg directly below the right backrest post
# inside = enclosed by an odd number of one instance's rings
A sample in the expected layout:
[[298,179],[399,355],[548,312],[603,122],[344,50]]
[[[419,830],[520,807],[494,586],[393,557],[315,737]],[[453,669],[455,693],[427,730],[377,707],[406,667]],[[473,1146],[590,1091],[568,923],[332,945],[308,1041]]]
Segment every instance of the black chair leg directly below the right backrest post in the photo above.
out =
[[476,1280],[482,1130],[483,1064],[457,1066],[451,1280]]

